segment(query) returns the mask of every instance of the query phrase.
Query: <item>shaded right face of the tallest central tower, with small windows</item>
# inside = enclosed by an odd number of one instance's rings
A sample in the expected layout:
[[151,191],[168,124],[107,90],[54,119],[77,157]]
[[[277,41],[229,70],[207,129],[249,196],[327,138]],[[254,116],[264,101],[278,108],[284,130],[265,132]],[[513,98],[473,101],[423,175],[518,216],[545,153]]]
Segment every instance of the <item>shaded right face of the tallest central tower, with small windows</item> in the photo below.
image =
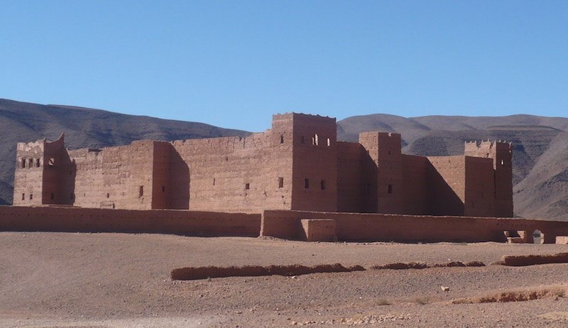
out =
[[[292,209],[337,211],[337,124],[335,119],[283,114],[293,131]],[[290,123],[287,123],[290,124]]]

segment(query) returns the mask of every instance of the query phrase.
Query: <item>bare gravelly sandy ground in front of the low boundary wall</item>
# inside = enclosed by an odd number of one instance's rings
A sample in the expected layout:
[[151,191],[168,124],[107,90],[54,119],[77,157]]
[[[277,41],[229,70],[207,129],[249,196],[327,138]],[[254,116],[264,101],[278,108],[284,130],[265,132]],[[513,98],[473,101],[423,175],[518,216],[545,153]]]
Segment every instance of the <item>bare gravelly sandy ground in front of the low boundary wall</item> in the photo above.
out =
[[[537,244],[344,244],[0,232],[0,327],[568,327],[568,298],[454,305],[568,284],[568,264],[172,281],[172,268],[482,261]],[[443,292],[441,285],[449,287]]]

